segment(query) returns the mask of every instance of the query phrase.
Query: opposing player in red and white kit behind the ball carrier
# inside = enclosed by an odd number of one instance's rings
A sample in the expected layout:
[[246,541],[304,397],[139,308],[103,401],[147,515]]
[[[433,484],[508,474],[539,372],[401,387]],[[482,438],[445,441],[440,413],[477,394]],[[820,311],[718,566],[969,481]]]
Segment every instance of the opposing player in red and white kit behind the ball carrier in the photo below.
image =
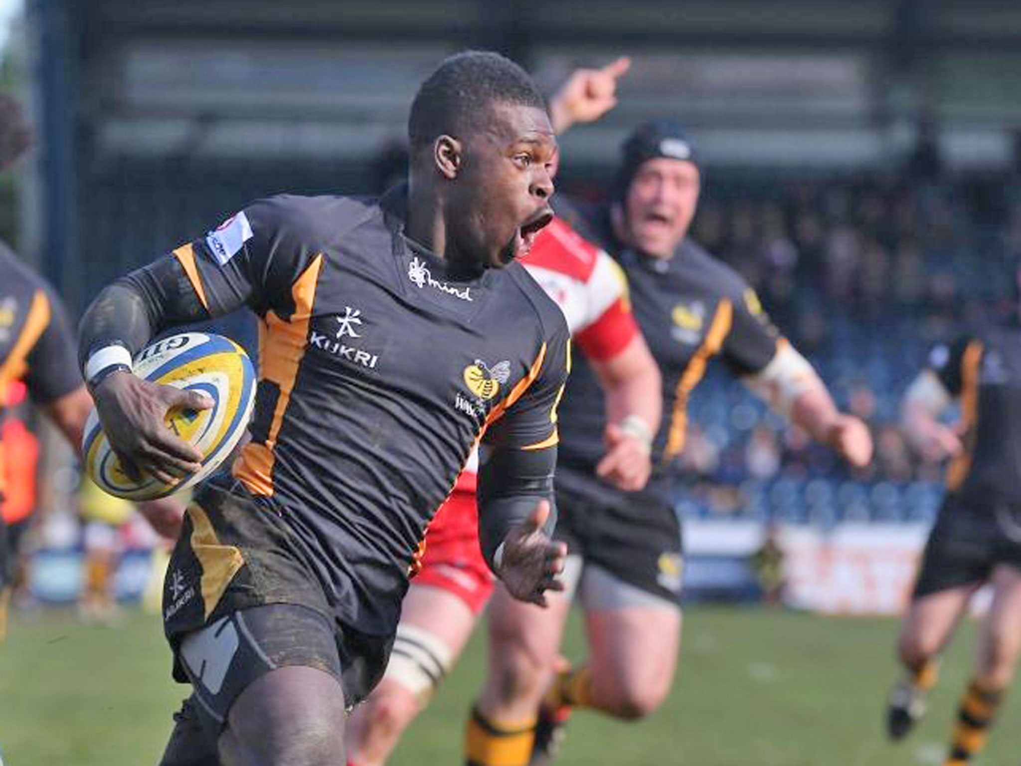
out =
[[[555,104],[554,100],[552,104]],[[551,111],[552,111],[551,104]],[[638,333],[620,267],[561,220],[522,262],[557,301],[606,392],[600,476],[640,489],[660,422],[660,373]],[[472,464],[426,534],[422,571],[404,599],[386,674],[350,720],[349,766],[380,766],[455,661],[493,589],[479,553]]]

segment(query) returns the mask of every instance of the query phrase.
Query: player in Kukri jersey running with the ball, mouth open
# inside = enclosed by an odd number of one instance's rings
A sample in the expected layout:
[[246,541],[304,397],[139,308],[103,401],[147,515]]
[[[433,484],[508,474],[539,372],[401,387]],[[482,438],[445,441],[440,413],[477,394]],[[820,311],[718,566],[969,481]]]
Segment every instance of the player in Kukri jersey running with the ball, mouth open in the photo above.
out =
[[542,96],[493,53],[417,94],[406,187],[379,202],[281,196],[106,288],[83,363],[126,465],[198,456],[162,425],[196,395],[127,374],[166,327],[262,320],[252,440],[189,507],[164,589],[192,699],[164,764],[342,764],[345,708],[379,680],[426,525],[474,444],[480,538],[516,597],[562,587],[551,520],[560,309],[516,255],[552,218]]

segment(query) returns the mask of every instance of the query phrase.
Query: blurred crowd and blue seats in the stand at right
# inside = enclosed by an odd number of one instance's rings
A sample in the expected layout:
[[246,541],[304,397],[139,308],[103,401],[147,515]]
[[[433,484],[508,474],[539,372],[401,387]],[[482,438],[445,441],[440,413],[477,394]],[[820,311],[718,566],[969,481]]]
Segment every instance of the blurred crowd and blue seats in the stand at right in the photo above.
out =
[[695,239],[748,279],[870,424],[876,459],[850,471],[721,377],[692,400],[685,514],[822,525],[933,518],[941,472],[906,442],[898,401],[931,345],[1013,309],[1021,208],[990,210],[996,194],[934,164],[878,180],[710,182]]

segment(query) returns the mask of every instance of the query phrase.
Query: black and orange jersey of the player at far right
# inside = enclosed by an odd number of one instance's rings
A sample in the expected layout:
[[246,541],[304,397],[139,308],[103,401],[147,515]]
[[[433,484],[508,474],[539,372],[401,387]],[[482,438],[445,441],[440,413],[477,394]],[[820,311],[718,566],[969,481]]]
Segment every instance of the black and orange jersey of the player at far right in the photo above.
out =
[[929,353],[931,369],[961,404],[964,451],[946,488],[961,507],[1021,502],[1021,325],[994,325]]

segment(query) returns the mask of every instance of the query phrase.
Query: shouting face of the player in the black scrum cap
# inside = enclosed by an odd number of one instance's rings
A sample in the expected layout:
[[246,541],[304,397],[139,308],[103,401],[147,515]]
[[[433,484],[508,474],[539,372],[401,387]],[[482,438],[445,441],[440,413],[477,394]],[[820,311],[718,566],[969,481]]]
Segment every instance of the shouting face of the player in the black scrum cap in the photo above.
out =
[[669,258],[688,232],[699,185],[698,169],[687,160],[642,162],[624,198],[622,239],[647,255]]

